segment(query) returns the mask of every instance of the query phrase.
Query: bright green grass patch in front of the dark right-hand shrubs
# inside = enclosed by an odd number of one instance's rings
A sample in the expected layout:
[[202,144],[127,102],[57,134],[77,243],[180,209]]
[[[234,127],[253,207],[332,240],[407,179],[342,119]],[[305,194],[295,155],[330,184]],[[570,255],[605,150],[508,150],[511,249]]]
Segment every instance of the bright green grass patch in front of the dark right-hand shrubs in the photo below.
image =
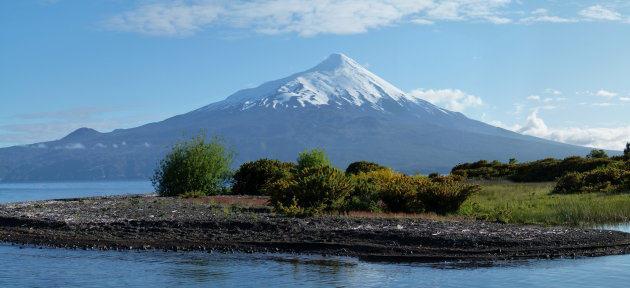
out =
[[483,189],[458,211],[501,222],[597,226],[630,222],[630,194],[550,194],[554,182],[480,182]]

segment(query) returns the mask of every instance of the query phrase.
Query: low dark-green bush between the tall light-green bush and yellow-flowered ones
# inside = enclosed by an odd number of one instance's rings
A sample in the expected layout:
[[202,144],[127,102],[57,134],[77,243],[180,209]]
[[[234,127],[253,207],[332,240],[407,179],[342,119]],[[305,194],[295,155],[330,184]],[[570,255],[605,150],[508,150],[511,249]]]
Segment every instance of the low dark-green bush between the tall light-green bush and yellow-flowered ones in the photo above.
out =
[[234,173],[232,194],[264,195],[269,183],[288,179],[294,169],[295,163],[271,159],[243,163]]

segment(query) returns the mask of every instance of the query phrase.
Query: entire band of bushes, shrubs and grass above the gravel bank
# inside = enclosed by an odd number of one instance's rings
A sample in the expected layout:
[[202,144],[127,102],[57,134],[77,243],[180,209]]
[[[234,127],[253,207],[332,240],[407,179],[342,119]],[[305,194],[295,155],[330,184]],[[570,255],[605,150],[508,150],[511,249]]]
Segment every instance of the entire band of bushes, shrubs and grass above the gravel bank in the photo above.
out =
[[562,160],[482,160],[459,164],[447,176],[406,175],[366,161],[344,172],[323,149],[300,153],[296,163],[246,162],[232,173],[233,155],[218,137],[178,142],[153,185],[163,196],[263,195],[275,212],[289,216],[365,211],[551,225],[630,221],[630,143],[622,156],[593,150]]

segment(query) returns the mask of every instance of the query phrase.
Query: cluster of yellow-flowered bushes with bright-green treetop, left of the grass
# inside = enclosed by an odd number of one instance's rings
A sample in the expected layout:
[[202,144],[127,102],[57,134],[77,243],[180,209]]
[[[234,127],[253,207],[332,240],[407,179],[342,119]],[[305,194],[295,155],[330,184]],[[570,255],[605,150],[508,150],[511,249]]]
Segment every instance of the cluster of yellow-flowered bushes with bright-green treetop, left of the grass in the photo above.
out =
[[297,162],[295,173],[267,182],[269,202],[276,212],[294,216],[331,211],[446,214],[457,211],[480,189],[460,183],[457,176],[409,176],[365,161],[351,163],[344,173],[331,167],[319,149],[300,153]]

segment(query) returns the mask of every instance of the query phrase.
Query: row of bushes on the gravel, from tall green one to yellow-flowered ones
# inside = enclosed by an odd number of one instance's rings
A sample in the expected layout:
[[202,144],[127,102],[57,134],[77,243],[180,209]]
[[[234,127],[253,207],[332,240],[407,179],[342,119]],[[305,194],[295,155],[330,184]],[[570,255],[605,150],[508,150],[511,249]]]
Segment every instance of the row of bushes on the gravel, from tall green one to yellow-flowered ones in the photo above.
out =
[[[282,214],[330,212],[453,213],[480,187],[456,175],[409,176],[371,162],[346,171],[332,167],[324,149],[300,153],[296,163],[272,159],[246,162],[232,173],[234,152],[225,141],[206,135],[173,145],[152,178],[162,196],[202,197],[219,193],[269,196]],[[228,184],[231,185],[231,191]]]

